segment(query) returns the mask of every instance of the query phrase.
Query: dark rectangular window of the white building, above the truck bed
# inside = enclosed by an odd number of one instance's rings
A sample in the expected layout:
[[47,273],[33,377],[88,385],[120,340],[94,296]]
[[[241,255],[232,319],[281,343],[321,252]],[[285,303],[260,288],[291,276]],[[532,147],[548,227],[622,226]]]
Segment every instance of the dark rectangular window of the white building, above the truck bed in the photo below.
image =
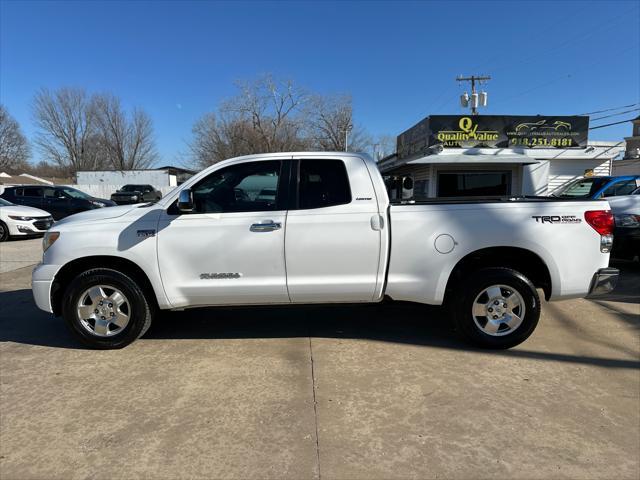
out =
[[439,197],[494,197],[511,193],[511,172],[440,172]]

